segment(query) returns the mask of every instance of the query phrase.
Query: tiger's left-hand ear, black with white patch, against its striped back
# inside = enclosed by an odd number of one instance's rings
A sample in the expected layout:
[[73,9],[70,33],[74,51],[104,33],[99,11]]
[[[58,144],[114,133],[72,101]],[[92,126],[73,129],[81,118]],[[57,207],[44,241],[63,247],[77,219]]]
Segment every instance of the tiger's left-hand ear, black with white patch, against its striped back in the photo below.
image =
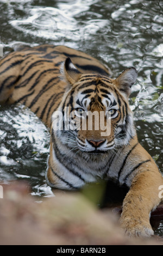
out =
[[67,58],[64,64],[64,75],[66,80],[72,85],[79,80],[82,73],[73,65],[71,59]]

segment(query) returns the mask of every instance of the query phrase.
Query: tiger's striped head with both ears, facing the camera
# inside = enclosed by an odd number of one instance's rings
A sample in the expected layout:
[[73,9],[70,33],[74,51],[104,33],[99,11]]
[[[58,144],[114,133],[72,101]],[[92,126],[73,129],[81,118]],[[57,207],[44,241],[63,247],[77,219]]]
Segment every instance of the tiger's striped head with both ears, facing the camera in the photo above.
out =
[[67,58],[65,95],[58,108],[62,122],[55,131],[60,142],[88,154],[106,153],[127,145],[135,136],[128,97],[136,77],[135,68],[126,69],[116,79],[82,74]]

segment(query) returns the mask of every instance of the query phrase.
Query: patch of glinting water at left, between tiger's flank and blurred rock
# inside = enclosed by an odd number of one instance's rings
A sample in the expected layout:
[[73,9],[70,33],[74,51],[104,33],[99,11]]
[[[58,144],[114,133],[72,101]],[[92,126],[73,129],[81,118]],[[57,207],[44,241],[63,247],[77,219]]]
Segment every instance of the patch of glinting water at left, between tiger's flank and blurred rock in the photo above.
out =
[[49,132],[28,108],[12,106],[0,111],[0,180],[28,180],[32,194],[51,194],[45,169]]

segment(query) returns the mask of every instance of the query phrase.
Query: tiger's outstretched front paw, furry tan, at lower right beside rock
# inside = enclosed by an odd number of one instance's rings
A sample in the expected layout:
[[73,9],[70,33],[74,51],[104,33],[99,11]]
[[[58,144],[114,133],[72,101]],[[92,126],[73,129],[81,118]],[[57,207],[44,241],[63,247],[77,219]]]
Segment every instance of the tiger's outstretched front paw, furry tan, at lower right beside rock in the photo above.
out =
[[[135,221],[134,221],[135,222]],[[154,231],[149,223],[133,223],[133,220],[121,221],[124,234],[130,237],[151,237]]]

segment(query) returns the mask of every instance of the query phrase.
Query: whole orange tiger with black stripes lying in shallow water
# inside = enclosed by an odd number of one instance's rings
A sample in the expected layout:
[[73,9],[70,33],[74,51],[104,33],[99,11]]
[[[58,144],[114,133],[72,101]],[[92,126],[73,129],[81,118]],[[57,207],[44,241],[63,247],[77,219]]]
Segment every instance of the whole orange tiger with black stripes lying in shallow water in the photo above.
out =
[[[129,106],[134,67],[117,78],[96,58],[59,45],[24,47],[4,56],[0,62],[0,104],[21,103],[49,128],[50,147],[45,177],[59,190],[78,190],[99,179],[112,180],[129,190],[123,200],[120,225],[126,235],[150,237],[151,211],[161,202],[163,178],[151,155],[140,145]],[[55,119],[54,113],[62,118]],[[82,119],[85,129],[74,125]],[[103,113],[103,127],[95,129],[87,113]],[[84,117],[82,113],[85,113]],[[62,125],[60,120],[62,120]],[[109,120],[109,123],[107,121]],[[58,127],[55,129],[55,124]],[[109,124],[109,132],[105,132]]]

